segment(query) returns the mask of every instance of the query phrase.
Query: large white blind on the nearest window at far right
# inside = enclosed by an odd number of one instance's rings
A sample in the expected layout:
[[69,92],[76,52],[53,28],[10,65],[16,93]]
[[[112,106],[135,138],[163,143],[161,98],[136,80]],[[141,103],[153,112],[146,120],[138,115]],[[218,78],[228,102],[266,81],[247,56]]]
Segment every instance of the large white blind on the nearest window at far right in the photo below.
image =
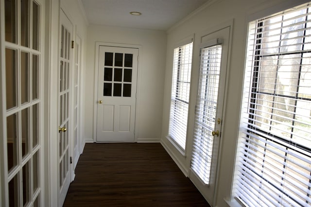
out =
[[311,206],[311,7],[249,26],[235,196]]

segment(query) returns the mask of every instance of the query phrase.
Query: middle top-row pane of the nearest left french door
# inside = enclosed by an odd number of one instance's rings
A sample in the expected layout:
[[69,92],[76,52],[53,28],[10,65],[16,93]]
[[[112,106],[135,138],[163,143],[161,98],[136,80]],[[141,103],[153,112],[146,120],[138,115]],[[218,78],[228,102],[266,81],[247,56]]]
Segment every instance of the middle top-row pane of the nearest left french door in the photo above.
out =
[[20,0],[20,44],[29,47],[29,1]]

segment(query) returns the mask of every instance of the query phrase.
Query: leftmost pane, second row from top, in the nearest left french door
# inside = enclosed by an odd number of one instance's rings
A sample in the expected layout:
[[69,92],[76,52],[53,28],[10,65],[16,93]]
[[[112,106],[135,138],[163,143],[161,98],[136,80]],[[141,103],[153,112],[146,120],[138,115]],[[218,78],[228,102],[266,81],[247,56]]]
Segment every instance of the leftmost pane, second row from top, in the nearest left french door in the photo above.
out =
[[6,109],[17,106],[17,54],[16,50],[5,49]]

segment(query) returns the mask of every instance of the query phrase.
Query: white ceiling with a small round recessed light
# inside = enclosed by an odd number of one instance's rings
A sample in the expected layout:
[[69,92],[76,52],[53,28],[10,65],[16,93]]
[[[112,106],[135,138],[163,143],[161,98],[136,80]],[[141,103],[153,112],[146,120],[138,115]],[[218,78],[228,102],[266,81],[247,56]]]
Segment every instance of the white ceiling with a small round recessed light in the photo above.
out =
[[90,24],[166,31],[208,0],[81,1]]

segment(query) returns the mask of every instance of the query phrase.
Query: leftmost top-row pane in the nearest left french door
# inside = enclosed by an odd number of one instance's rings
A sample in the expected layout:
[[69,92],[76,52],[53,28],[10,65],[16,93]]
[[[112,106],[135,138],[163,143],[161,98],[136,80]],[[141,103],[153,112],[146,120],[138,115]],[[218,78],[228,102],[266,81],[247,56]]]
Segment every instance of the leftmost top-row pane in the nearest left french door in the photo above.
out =
[[5,41],[17,43],[17,2],[16,0],[5,0],[4,7]]

